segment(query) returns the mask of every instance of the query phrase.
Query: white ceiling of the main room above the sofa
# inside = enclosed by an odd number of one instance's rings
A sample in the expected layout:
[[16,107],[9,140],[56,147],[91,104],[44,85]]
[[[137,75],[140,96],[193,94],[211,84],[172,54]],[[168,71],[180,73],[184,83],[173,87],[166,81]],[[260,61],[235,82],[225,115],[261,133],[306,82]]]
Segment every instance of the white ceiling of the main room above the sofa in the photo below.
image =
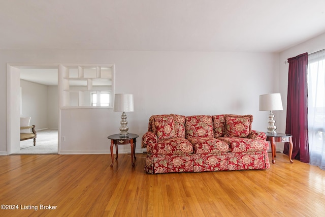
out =
[[1,1],[0,29],[0,49],[280,52],[325,33],[325,1]]

